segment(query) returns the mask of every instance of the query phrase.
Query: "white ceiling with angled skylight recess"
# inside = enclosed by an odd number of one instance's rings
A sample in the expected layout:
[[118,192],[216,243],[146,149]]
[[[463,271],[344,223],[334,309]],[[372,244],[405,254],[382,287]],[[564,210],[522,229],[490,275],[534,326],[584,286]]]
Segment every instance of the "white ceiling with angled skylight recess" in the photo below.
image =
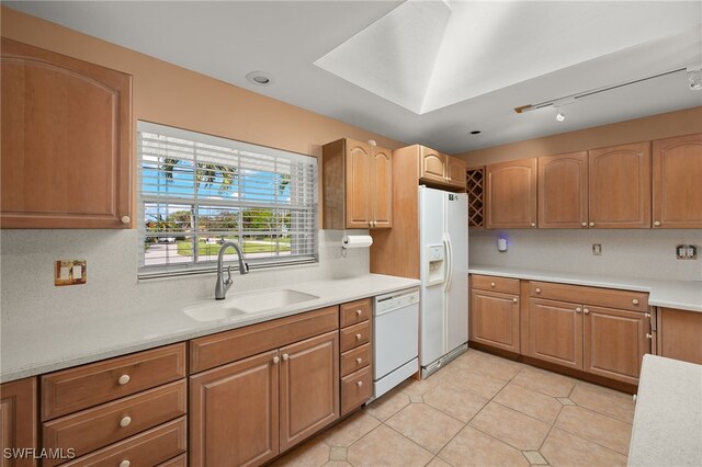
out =
[[577,99],[564,122],[513,110],[700,64],[700,0],[3,4],[449,153],[702,105],[683,70]]

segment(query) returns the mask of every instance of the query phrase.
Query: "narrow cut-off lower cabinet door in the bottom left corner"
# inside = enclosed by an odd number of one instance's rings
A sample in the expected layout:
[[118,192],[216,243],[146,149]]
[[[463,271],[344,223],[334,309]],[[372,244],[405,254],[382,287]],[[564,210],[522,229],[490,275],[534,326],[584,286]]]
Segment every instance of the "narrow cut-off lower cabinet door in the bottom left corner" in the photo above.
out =
[[35,466],[32,458],[7,459],[4,449],[36,448],[36,378],[0,386],[0,466]]

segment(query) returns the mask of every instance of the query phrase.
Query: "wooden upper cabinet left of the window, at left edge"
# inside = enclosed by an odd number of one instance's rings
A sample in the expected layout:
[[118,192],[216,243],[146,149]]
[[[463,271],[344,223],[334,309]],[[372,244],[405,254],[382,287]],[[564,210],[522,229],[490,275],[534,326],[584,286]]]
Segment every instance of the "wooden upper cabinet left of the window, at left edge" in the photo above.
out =
[[3,228],[127,228],[132,77],[2,38]]

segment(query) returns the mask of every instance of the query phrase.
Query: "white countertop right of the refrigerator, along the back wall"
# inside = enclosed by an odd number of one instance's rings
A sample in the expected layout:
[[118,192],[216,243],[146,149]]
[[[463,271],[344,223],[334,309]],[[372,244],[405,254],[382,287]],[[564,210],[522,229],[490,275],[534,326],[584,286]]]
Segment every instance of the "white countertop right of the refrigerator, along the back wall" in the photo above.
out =
[[469,266],[468,273],[526,278],[532,281],[559,282],[563,284],[589,285],[592,287],[648,292],[648,305],[650,306],[702,312],[702,282],[700,281],[634,278],[604,274],[579,274],[536,269],[482,265]]

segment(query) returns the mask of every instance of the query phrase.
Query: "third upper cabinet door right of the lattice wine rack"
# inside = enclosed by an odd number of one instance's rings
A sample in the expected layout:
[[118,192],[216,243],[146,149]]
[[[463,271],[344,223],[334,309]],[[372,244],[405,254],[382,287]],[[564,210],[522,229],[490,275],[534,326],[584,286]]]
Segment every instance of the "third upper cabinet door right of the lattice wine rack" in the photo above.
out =
[[650,227],[650,143],[589,151],[589,227]]

